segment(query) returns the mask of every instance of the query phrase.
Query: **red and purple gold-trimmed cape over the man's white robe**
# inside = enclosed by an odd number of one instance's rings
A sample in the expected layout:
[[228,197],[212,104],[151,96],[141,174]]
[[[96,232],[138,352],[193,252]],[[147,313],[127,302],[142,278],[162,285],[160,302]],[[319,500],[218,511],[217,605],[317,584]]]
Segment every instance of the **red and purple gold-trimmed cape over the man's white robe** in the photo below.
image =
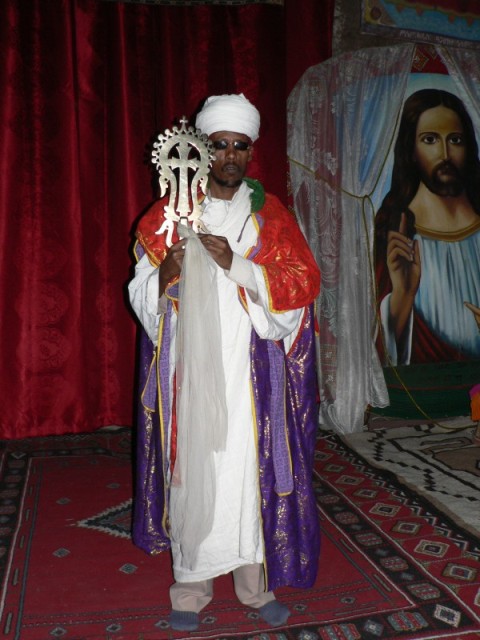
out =
[[[164,238],[155,234],[162,215],[159,202],[137,232],[138,257],[146,251],[154,265],[166,253]],[[250,340],[266,576],[269,589],[309,587],[316,578],[320,548],[312,486],[318,424],[313,303],[320,274],[294,217],[277,198],[267,194],[261,210],[252,215],[258,240],[247,257],[262,267],[272,310],[304,310],[288,353],[282,341],[260,339],[253,329]],[[158,347],[141,335],[133,538],[148,553],[170,546],[167,429],[172,422],[170,320],[178,306],[177,288],[176,280],[167,288],[168,310],[161,319]],[[239,300],[245,305],[241,287]]]

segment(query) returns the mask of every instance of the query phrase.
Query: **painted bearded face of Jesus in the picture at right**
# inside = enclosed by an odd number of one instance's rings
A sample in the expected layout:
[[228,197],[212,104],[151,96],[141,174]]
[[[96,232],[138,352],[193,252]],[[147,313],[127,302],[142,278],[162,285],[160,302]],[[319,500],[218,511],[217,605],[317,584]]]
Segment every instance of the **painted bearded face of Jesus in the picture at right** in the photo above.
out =
[[417,123],[414,161],[427,188],[439,196],[463,191],[465,136],[459,116],[447,107],[427,109]]

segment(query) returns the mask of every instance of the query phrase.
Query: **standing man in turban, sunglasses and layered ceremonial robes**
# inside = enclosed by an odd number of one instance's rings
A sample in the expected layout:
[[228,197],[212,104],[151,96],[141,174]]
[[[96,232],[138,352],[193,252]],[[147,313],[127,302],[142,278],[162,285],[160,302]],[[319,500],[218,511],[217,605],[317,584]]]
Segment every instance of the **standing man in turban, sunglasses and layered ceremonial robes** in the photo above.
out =
[[215,155],[202,232],[177,228],[167,242],[164,200],[136,230],[133,539],[171,550],[172,628],[197,629],[214,578],[230,572],[240,602],[279,626],[291,612],[274,590],[311,587],[318,568],[320,272],[294,215],[246,177],[256,107],[243,94],[212,96],[196,127]]

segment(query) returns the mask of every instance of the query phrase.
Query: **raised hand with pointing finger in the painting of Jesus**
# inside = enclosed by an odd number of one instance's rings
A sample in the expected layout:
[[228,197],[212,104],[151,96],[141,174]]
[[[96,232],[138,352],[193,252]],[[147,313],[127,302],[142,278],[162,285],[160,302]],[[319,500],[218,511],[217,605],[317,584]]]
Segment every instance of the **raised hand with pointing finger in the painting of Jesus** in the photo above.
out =
[[387,267],[392,281],[390,315],[397,341],[403,335],[420,285],[420,249],[407,237],[407,216],[402,213],[398,231],[389,231]]

